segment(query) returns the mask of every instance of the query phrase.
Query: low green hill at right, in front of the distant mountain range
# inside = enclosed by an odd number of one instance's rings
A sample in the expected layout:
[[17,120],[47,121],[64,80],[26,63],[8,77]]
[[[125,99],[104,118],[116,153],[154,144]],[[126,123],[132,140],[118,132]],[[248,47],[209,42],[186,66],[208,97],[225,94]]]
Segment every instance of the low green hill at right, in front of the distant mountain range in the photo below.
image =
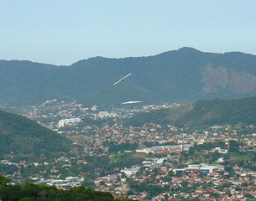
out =
[[213,99],[195,101],[170,109],[140,113],[123,123],[125,126],[158,123],[197,128],[224,124],[255,125],[255,111],[256,96],[241,99]]

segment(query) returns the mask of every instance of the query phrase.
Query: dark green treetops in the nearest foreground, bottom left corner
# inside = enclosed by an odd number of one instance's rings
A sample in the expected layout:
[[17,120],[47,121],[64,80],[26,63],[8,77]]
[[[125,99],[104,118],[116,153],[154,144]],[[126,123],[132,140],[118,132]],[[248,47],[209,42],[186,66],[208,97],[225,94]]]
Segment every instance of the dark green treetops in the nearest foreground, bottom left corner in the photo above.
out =
[[82,200],[97,200],[111,201],[123,200],[129,201],[128,198],[114,198],[112,193],[99,192],[91,190],[91,188],[77,187],[70,190],[58,189],[55,186],[48,186],[44,183],[34,184],[26,183],[24,186],[8,184],[8,178],[0,176],[0,200],[12,201],[82,201]]

